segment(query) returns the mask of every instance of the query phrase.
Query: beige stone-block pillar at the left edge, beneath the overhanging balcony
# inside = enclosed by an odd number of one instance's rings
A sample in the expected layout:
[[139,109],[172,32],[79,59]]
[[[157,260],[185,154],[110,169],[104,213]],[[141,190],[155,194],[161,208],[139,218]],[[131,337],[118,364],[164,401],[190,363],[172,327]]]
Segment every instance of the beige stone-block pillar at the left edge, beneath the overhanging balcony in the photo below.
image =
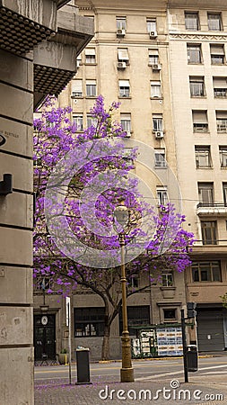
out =
[[33,404],[31,58],[0,51],[0,91],[0,403]]

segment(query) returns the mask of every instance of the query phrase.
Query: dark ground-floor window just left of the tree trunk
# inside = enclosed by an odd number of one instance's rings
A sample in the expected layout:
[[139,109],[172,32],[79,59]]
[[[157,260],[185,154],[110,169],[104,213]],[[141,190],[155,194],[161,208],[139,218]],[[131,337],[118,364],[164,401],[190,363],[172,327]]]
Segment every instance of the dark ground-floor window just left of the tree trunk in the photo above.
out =
[[94,337],[104,335],[105,308],[75,308],[74,337]]

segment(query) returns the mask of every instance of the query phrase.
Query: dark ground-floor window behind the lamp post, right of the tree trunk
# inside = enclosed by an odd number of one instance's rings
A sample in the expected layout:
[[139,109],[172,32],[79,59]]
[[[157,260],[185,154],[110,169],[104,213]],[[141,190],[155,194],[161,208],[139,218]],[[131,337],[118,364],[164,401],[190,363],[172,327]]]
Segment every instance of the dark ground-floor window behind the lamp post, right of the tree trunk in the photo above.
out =
[[[136,329],[133,326],[142,326],[150,324],[150,307],[149,305],[127,305],[127,322],[129,335],[136,335]],[[119,312],[119,332],[122,333],[122,311]]]

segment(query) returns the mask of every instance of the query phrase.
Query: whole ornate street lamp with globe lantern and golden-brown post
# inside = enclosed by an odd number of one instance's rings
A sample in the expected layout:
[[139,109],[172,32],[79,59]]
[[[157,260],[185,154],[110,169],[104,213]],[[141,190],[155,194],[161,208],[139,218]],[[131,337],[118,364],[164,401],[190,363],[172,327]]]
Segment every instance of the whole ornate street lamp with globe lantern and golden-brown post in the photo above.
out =
[[[122,291],[122,320],[123,331],[121,336],[122,367],[120,369],[121,383],[134,382],[134,369],[131,358],[131,342],[127,329],[127,278],[125,266],[126,227],[129,224],[130,211],[126,205],[118,205],[114,211],[114,228],[118,232],[121,256],[121,291]],[[120,228],[120,230],[118,230]]]

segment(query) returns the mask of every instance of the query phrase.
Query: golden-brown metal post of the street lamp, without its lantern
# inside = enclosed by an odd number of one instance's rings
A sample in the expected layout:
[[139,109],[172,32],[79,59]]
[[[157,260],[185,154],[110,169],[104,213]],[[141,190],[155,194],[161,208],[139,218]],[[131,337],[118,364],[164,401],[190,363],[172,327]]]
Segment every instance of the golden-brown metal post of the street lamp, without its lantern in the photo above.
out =
[[123,331],[121,337],[122,343],[122,368],[120,369],[121,383],[134,382],[134,369],[131,359],[131,342],[129,332],[127,330],[127,278],[125,267],[125,235],[119,234],[119,244],[121,253],[121,289],[122,289],[122,320]]

